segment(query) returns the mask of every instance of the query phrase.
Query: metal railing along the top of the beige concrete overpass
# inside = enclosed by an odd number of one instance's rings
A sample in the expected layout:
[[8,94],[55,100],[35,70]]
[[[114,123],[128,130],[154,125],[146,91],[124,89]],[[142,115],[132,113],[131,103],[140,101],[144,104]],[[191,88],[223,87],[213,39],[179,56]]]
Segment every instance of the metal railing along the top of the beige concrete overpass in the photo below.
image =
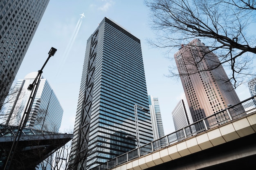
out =
[[137,157],[141,157],[150,152],[154,152],[171,144],[175,144],[178,141],[182,141],[188,137],[196,135],[200,132],[204,132],[208,129],[214,128],[221,124],[225,124],[233,119],[238,119],[244,115],[256,111],[256,96],[240,102],[234,106],[229,106],[218,113],[215,113],[209,117],[201,119],[183,129],[177,130],[169,135],[152,141],[144,146],[131,150],[123,155],[120,155],[114,159],[109,160],[99,166],[92,168],[91,170],[108,170],[122,163],[128,162]]

